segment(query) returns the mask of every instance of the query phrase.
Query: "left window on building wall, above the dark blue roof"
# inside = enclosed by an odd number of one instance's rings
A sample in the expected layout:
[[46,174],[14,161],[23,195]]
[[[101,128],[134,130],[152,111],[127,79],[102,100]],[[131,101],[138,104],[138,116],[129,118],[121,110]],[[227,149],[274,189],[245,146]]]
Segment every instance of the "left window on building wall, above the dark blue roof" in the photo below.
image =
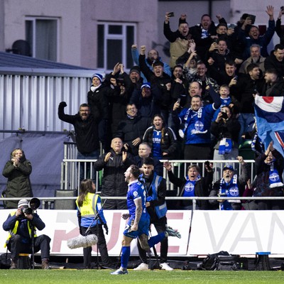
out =
[[26,40],[33,58],[58,61],[58,18],[26,18]]

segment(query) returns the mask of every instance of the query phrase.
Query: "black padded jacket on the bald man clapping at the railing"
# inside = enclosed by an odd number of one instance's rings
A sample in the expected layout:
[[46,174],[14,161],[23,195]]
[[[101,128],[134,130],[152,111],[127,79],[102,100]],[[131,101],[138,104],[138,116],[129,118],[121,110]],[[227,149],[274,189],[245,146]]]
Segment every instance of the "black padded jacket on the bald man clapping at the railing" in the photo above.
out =
[[[95,170],[104,170],[101,196],[126,197],[128,187],[124,173],[130,165],[134,164],[132,155],[128,153],[126,160],[123,162],[122,152],[116,154],[112,149],[110,152],[111,156],[107,162],[104,161],[107,153],[104,153],[94,163]],[[126,200],[107,200],[104,204],[104,209],[126,209]]]

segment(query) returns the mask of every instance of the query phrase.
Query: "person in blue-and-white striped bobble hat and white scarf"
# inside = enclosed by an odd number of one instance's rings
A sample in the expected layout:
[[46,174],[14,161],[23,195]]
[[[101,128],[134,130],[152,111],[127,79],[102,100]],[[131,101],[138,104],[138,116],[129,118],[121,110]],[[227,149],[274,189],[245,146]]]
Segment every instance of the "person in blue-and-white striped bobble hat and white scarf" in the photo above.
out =
[[87,102],[91,109],[91,114],[98,121],[99,141],[102,143],[104,151],[110,148],[110,118],[111,110],[109,98],[113,95],[114,89],[104,84],[101,74],[96,73],[92,76],[92,85],[87,94]]

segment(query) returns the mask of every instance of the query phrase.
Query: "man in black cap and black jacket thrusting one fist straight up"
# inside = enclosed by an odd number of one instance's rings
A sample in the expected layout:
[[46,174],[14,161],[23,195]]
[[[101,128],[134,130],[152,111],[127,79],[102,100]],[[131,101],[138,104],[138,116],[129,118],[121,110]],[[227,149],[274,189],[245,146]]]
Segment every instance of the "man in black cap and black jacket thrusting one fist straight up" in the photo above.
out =
[[168,117],[170,114],[170,87],[171,87],[171,77],[164,72],[163,62],[156,61],[153,64],[153,71],[146,65],[145,62],[146,46],[141,45],[140,55],[139,55],[139,65],[141,71],[146,76],[148,82],[151,82],[151,86],[154,85],[160,89],[162,93],[162,99],[160,100],[160,113],[163,115],[165,124],[168,125]]

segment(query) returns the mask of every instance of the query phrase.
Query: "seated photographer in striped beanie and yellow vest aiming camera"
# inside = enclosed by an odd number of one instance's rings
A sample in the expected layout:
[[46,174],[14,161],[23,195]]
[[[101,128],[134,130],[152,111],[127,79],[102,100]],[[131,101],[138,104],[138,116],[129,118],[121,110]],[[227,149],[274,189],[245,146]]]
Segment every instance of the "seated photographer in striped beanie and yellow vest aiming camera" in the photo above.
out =
[[41,268],[48,269],[50,256],[50,237],[46,235],[36,236],[35,229],[43,230],[45,224],[38,214],[33,212],[28,206],[28,200],[20,200],[16,212],[11,212],[3,224],[4,231],[9,231],[6,241],[11,251],[11,267],[17,269],[17,261],[19,253],[32,252],[32,234],[34,236],[34,252],[41,251]]

